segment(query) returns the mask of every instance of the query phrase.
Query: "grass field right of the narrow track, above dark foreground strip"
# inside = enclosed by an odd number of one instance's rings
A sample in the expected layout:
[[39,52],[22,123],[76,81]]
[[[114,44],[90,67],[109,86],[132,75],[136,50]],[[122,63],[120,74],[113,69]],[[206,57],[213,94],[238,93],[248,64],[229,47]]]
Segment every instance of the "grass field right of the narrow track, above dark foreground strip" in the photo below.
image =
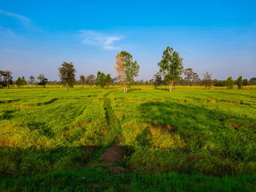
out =
[[134,90],[113,95],[113,109],[121,145],[134,151],[127,164],[139,172],[256,170],[255,91]]

